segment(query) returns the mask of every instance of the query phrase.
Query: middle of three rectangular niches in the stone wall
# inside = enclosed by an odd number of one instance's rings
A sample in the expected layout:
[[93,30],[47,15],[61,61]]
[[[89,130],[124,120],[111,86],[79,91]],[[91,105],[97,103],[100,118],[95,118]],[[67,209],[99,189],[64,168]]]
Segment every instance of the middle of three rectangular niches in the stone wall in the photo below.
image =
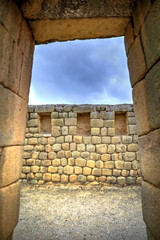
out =
[[90,113],[77,113],[77,135],[91,135]]

